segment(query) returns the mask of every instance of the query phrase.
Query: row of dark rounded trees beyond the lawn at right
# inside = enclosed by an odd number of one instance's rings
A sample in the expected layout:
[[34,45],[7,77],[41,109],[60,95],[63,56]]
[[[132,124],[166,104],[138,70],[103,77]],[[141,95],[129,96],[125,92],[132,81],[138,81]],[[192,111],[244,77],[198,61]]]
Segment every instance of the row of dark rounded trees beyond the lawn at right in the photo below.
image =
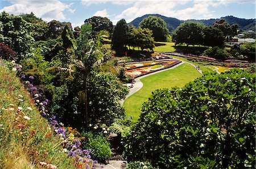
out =
[[184,22],[172,32],[172,40],[175,44],[223,47],[225,41],[237,35],[237,27],[237,24],[230,26],[225,19],[217,20],[213,26]]

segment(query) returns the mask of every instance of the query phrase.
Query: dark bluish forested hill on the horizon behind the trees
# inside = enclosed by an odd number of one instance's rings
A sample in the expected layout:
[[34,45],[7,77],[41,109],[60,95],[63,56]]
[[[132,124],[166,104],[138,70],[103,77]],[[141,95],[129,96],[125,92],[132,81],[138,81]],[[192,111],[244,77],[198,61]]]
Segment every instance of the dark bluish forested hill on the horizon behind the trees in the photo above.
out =
[[[139,23],[149,15],[158,16],[162,18],[167,23],[167,28],[169,29],[170,32],[172,32],[176,27],[178,27],[180,23],[188,21],[188,20],[179,20],[176,18],[166,17],[159,14],[147,14],[134,19],[132,22],[129,23],[129,25],[133,24],[135,27],[138,27]],[[203,19],[203,20],[190,19],[190,20],[204,23],[206,26],[211,26],[218,19]],[[225,16],[225,17],[221,17],[221,19],[225,19],[226,22],[228,22],[229,24],[238,24],[239,26],[238,29],[243,29],[245,31],[249,31],[249,30],[255,31],[255,19],[242,19],[242,18],[236,18],[234,16]]]

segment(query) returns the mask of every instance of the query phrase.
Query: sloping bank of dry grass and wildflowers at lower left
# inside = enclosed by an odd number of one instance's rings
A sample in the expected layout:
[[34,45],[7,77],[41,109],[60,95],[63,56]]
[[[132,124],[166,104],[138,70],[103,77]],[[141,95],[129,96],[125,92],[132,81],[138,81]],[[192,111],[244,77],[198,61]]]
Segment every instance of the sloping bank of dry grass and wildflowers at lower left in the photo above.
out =
[[75,162],[60,152],[59,138],[31,102],[15,73],[0,65],[0,168],[39,168],[39,162],[75,168]]

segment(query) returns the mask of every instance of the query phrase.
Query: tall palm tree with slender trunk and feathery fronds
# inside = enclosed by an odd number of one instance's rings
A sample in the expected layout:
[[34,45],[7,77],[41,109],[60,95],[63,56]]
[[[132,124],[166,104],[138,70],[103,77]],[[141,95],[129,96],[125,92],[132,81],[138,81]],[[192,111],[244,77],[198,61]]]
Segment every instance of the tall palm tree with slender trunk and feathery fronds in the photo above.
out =
[[[68,31],[68,30],[67,30]],[[91,38],[92,26],[90,24],[83,24],[81,26],[80,36],[77,39],[72,39],[67,33],[68,39],[73,44],[75,55],[71,58],[71,64],[67,68],[54,67],[59,70],[69,71],[72,77],[73,72],[82,74],[83,87],[79,92],[79,99],[84,104],[84,112],[82,113],[84,125],[88,127],[88,108],[87,108],[87,86],[86,81],[88,74],[94,66],[101,64],[109,52],[105,45],[102,44],[102,38],[108,37],[107,31],[99,32],[94,38]]]

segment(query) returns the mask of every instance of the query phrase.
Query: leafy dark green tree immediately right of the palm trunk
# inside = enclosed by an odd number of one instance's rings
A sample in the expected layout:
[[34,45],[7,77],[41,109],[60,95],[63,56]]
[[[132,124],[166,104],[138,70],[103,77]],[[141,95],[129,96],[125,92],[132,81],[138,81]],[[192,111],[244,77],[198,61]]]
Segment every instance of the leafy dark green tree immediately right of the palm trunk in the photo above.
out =
[[100,120],[101,124],[110,126],[114,119],[125,116],[125,109],[118,101],[125,98],[128,90],[117,77],[111,73],[92,71],[87,82],[90,124]]

